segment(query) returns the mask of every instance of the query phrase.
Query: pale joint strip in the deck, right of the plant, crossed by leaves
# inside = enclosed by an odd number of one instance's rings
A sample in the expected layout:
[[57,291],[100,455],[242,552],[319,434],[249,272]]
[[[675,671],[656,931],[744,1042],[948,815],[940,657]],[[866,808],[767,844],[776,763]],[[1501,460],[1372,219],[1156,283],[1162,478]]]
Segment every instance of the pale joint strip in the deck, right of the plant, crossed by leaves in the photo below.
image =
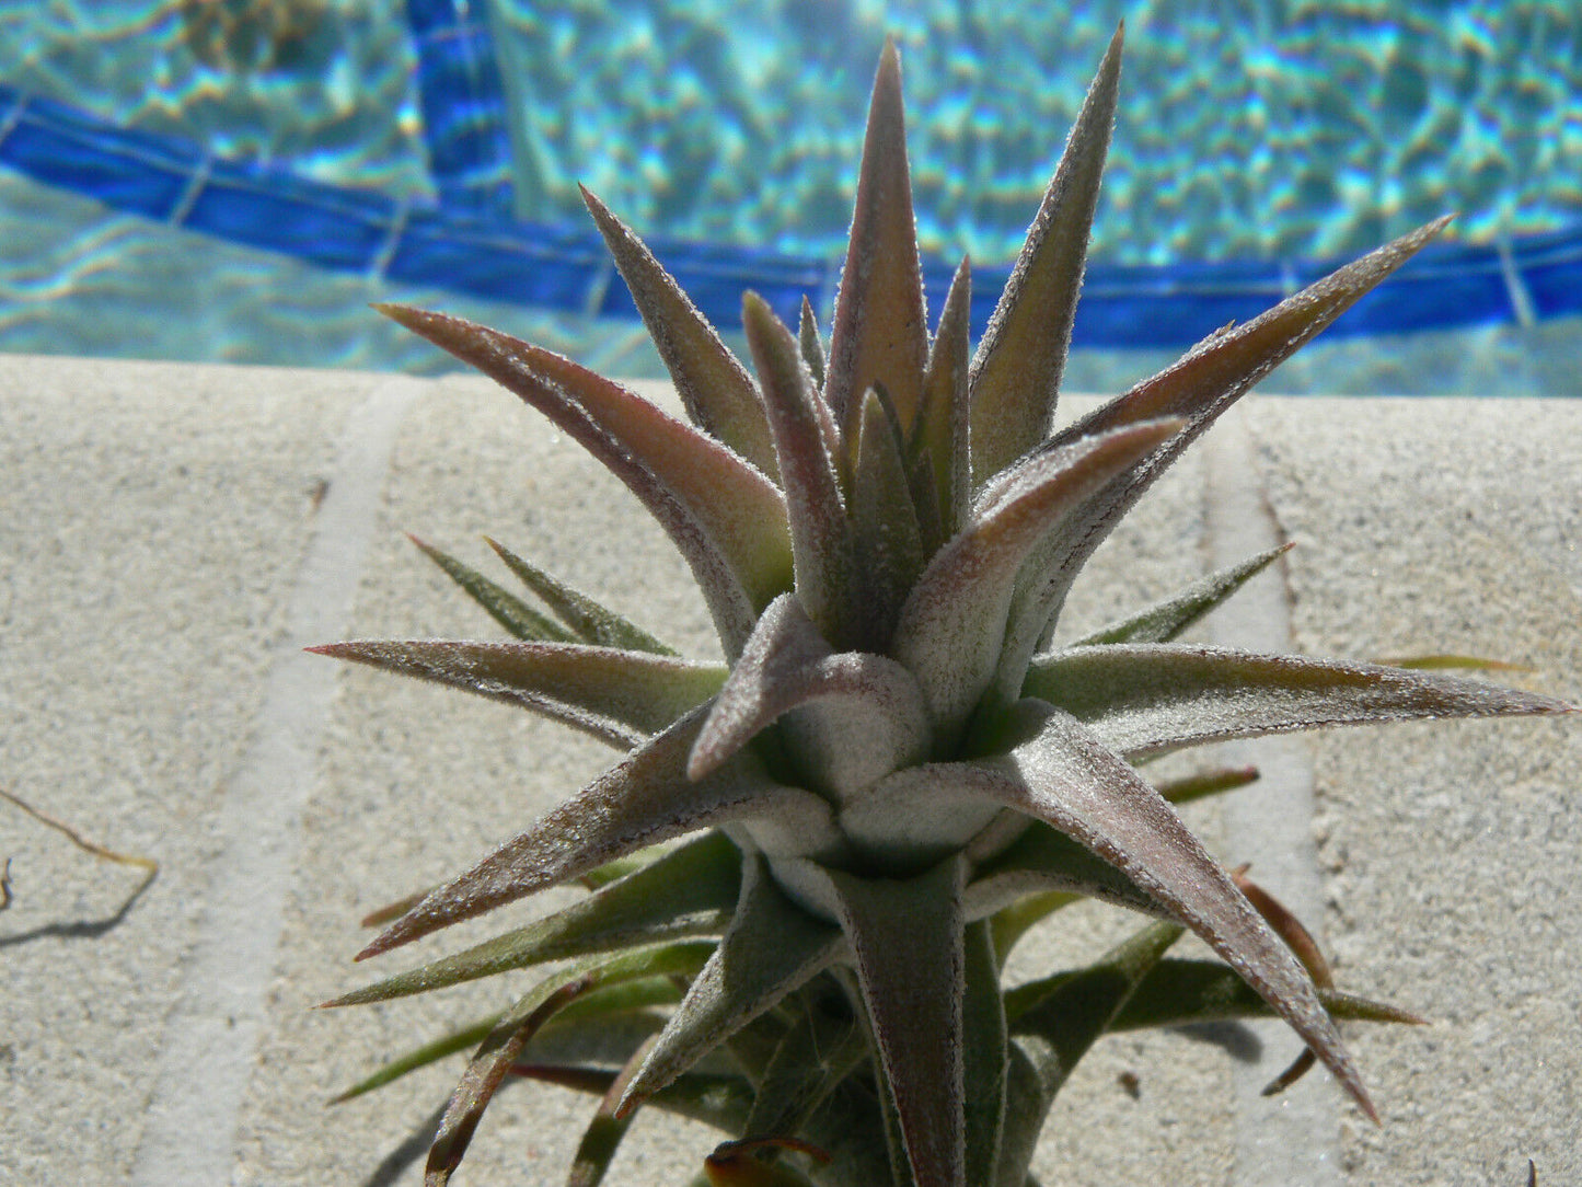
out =
[[[1256,399],[1256,397],[1253,397]],[[1207,472],[1210,567],[1223,568],[1283,543],[1259,476],[1248,411],[1232,408],[1202,440]],[[1300,548],[1300,544],[1299,544]],[[1291,652],[1291,605],[1285,560],[1255,578],[1212,616],[1213,643]],[[1261,779],[1226,798],[1232,861],[1251,861],[1251,877],[1319,932],[1324,885],[1313,845],[1313,763],[1300,738],[1275,736],[1220,747],[1228,763],[1253,763]],[[1323,943],[1323,935],[1318,935]],[[1300,1046],[1280,1022],[1253,1024],[1264,1057],[1237,1064],[1234,1187],[1338,1187],[1340,1089],[1321,1070],[1264,1097],[1262,1087]]]

